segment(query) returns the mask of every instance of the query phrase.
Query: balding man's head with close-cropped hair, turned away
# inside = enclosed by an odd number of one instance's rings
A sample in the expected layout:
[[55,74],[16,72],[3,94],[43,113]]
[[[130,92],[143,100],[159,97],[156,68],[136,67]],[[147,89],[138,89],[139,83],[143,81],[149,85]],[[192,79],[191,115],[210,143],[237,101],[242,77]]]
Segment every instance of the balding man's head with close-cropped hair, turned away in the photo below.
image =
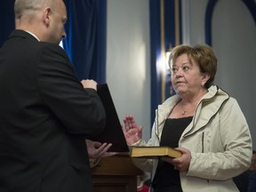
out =
[[17,29],[28,30],[43,42],[60,44],[66,37],[67,11],[63,0],[16,0]]

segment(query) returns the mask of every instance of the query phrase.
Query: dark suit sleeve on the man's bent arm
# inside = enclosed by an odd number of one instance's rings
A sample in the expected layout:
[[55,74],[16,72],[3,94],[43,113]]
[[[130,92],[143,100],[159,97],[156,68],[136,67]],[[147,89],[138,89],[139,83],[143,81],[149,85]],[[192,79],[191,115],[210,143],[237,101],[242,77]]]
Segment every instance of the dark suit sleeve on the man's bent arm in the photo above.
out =
[[84,89],[59,45],[45,46],[36,66],[40,96],[69,133],[92,136],[103,130],[106,114],[98,93]]

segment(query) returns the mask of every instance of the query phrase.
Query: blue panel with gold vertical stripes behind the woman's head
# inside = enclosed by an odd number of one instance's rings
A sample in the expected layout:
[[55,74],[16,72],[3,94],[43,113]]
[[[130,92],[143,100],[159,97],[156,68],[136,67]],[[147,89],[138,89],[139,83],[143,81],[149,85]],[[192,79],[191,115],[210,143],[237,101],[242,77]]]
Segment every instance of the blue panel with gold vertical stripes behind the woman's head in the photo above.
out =
[[[150,0],[151,124],[155,109],[171,96],[165,52],[181,42],[180,0]],[[164,69],[163,69],[164,66]]]

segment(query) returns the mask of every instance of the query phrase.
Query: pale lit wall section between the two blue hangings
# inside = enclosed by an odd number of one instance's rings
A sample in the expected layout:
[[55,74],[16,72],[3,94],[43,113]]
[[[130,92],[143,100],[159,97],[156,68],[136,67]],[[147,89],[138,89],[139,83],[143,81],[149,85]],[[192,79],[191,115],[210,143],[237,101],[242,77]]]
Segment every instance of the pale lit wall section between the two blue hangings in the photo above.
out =
[[123,124],[126,114],[150,136],[148,0],[108,0],[107,83]]

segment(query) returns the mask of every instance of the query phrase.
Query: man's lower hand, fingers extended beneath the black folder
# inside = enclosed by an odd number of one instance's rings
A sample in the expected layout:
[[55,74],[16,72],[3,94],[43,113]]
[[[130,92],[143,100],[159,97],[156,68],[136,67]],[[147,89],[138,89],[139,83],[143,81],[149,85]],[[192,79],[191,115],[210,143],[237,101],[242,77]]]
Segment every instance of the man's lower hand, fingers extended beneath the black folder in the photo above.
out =
[[111,143],[101,144],[98,141],[85,140],[87,145],[87,151],[89,158],[115,156],[116,152],[108,152],[108,149],[112,146]]

